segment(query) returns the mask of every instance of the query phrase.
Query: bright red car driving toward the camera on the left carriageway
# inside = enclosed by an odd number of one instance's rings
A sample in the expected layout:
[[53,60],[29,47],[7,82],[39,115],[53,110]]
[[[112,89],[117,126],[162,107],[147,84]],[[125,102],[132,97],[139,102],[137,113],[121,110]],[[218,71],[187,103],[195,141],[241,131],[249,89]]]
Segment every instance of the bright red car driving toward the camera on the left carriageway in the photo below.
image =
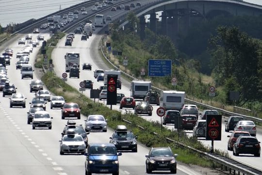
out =
[[81,107],[78,106],[76,103],[65,103],[62,108],[62,119],[65,118],[77,118],[80,119],[81,114]]

